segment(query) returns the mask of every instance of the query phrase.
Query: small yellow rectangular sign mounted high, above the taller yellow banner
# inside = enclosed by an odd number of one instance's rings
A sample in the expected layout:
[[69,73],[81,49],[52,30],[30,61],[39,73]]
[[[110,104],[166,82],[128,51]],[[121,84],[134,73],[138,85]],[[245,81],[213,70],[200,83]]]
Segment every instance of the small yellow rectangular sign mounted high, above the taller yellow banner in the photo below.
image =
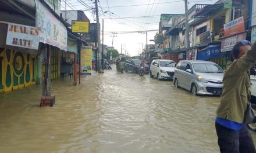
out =
[[72,32],[88,33],[89,22],[88,21],[72,21]]

